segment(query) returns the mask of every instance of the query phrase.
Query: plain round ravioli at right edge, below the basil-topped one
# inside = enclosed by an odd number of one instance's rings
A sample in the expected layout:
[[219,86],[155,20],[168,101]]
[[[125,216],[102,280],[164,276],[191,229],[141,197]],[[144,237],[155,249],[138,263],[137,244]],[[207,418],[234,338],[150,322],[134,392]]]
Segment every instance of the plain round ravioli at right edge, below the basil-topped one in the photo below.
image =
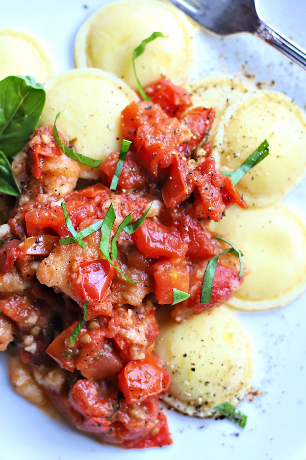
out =
[[214,232],[243,252],[249,274],[227,305],[259,311],[282,307],[306,289],[306,223],[282,202],[241,210],[236,206]]

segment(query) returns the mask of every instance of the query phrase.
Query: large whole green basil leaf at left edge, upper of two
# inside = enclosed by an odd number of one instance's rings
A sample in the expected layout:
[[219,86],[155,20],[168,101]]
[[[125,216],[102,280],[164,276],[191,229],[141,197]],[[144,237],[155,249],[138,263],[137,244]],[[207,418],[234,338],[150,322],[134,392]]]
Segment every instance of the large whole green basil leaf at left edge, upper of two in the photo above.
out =
[[46,91],[33,77],[13,75],[0,81],[0,146],[13,156],[27,144],[46,101]]

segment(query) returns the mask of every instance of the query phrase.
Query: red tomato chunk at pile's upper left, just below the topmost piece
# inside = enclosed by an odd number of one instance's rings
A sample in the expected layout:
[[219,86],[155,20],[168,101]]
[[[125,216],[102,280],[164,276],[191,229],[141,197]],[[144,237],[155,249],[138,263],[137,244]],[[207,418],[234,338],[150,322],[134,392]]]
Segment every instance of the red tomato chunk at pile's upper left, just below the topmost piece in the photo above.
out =
[[158,104],[147,101],[131,102],[121,112],[121,131],[124,139],[135,142],[138,128],[158,123],[169,117]]

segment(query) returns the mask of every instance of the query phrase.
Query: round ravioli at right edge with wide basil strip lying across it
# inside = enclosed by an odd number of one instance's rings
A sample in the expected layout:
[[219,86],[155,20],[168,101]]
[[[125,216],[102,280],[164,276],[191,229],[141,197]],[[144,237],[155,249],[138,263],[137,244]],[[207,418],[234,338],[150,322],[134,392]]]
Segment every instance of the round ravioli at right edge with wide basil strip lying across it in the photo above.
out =
[[236,170],[265,139],[270,154],[236,186],[258,206],[283,198],[304,177],[305,113],[282,93],[249,93],[224,113],[213,149],[218,167]]

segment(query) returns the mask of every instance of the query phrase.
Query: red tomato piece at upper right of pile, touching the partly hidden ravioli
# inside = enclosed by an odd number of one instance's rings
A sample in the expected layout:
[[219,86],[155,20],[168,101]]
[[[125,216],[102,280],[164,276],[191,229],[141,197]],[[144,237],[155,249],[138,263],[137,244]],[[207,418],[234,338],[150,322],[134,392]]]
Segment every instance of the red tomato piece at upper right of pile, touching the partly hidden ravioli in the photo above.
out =
[[190,153],[205,138],[211,130],[215,116],[216,110],[214,108],[193,107],[188,110],[181,120],[192,132],[190,141],[184,145],[185,152]]

